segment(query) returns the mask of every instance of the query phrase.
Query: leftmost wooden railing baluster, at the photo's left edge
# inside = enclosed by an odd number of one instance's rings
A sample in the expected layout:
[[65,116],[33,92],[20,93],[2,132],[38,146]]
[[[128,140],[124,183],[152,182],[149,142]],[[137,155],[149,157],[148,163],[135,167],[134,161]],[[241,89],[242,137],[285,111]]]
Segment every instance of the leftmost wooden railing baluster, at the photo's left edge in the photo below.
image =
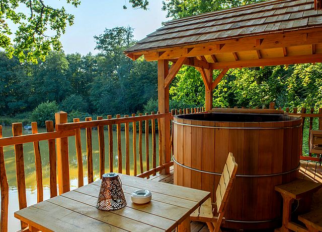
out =
[[[2,138],[2,126],[0,125],[0,138]],[[9,207],[9,186],[7,180],[4,147],[0,147],[0,190],[1,190],[1,218],[0,231],[8,231],[8,207]]]

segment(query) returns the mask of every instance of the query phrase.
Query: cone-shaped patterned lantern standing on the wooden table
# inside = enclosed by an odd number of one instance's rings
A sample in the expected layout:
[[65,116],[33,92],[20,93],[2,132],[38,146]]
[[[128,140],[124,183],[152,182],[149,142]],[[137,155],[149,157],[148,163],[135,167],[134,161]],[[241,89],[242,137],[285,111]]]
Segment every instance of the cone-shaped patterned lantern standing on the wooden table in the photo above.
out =
[[118,173],[105,173],[96,207],[100,210],[109,211],[121,209],[124,206],[126,206],[126,200]]

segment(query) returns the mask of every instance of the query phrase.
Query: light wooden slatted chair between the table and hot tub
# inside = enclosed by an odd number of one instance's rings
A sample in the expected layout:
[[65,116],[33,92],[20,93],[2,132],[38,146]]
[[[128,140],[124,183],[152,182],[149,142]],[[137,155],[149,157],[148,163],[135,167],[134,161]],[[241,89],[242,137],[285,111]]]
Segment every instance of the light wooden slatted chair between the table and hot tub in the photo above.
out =
[[232,153],[229,152],[216,190],[216,203],[212,204],[211,198],[209,198],[190,215],[191,220],[206,222],[210,231],[221,231],[220,225],[224,220],[223,215],[225,214],[230,190],[236,177],[236,171],[237,163]]

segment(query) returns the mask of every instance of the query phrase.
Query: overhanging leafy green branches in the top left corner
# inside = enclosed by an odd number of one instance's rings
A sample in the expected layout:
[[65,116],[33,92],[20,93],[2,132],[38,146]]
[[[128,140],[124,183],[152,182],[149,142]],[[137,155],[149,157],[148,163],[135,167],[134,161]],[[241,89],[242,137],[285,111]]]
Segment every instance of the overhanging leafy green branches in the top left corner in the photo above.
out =
[[[66,2],[74,7],[80,4],[79,0]],[[67,24],[73,24],[73,19],[74,16],[68,14],[64,7],[52,8],[44,0],[2,0],[0,47],[9,57],[17,56],[20,62],[44,61],[51,48],[61,49],[60,36],[65,33]],[[13,33],[9,21],[18,26],[13,41],[9,37]]]

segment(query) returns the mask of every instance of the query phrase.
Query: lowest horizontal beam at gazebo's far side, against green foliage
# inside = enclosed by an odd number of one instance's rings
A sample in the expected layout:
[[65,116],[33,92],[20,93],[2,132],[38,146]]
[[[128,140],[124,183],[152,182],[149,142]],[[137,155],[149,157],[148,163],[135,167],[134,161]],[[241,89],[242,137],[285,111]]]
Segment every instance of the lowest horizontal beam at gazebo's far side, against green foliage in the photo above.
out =
[[234,68],[249,68],[261,66],[276,66],[276,65],[294,65],[322,62],[322,54],[314,55],[296,55],[296,56],[283,56],[276,58],[266,58],[257,60],[243,60],[231,62],[219,62],[211,64],[212,69],[234,69]]

